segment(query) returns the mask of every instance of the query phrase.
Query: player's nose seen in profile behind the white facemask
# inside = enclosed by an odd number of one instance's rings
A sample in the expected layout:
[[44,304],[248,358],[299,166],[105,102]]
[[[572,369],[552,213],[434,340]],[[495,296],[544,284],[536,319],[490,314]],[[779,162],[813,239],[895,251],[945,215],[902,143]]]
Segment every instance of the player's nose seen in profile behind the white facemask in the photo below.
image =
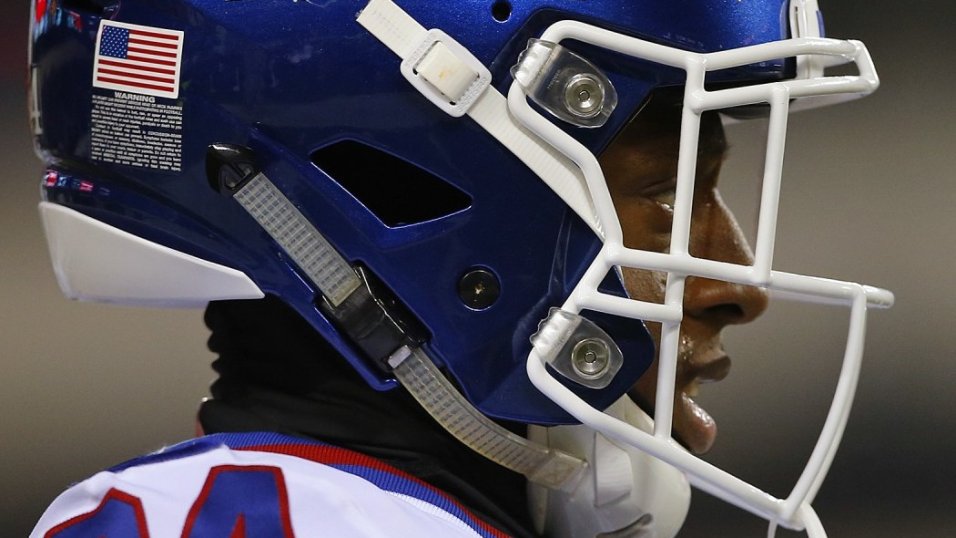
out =
[[[702,259],[753,264],[747,238],[716,190],[695,203],[690,253]],[[763,288],[709,278],[690,277],[684,288],[685,314],[720,326],[753,321],[767,309],[768,300]]]

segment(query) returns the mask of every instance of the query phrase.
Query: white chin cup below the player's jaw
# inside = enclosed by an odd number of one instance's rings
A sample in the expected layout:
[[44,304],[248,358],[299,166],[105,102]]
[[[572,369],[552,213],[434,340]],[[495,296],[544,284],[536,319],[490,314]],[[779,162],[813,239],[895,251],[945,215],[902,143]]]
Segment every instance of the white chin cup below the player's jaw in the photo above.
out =
[[[643,431],[653,430],[650,417],[627,396],[605,412]],[[590,538],[633,526],[627,536],[677,535],[690,507],[690,485],[675,467],[584,425],[529,426],[528,437],[588,462],[586,475],[570,493],[529,484],[538,532]]]

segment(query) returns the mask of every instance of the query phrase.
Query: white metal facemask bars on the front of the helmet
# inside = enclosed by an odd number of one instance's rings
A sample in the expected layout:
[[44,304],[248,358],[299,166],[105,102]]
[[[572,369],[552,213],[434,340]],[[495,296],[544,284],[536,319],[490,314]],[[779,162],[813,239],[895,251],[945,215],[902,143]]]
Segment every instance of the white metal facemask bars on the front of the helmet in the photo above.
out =
[[[527,364],[529,377],[539,390],[582,423],[675,465],[687,472],[691,483],[699,489],[770,520],[771,535],[779,524],[796,530],[806,529],[812,537],[825,536],[810,503],[826,475],[849,415],[863,353],[866,310],[868,307],[890,306],[893,296],[877,288],[783,273],[773,271],[771,267],[790,102],[793,99],[812,99],[820,105],[845,101],[852,95],[871,93],[878,86],[878,78],[866,48],[856,41],[797,38],[698,54],[574,21],[552,25],[541,39],[553,43],[575,39],[679,68],[687,73],[687,83],[668,254],[624,247],[621,224],[597,158],[574,138],[535,112],[529,106],[522,87],[518,83],[512,84],[508,94],[511,113],[519,123],[580,167],[597,220],[604,231],[605,242],[601,252],[562,309],[570,313],[596,310],[662,324],[654,433],[642,432],[614,419],[574,395],[547,372],[542,359],[546,350],[532,350]],[[793,56],[813,58],[815,65],[822,67],[854,63],[859,75],[798,78],[715,91],[704,88],[705,76],[709,71]],[[701,114],[708,110],[755,103],[770,105],[770,119],[754,265],[742,266],[695,258],[689,253],[689,243]],[[638,301],[599,292],[598,286],[607,273],[621,267],[667,272],[664,303]],[[785,499],[778,499],[687,453],[671,438],[684,284],[688,276],[767,288],[775,297],[783,299],[841,304],[850,308],[847,347],[834,400],[810,460]]]

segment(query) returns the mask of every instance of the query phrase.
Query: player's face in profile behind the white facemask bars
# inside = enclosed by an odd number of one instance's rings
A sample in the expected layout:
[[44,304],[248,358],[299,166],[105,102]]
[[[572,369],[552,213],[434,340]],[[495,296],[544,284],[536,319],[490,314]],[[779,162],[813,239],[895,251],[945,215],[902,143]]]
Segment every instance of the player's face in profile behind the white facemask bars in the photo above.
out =
[[[627,247],[657,252],[668,248],[679,137],[680,107],[652,101],[601,156]],[[750,265],[753,255],[747,240],[717,192],[717,176],[726,150],[720,118],[705,115],[690,253],[698,258]],[[624,283],[635,299],[663,302],[663,273],[625,269]],[[752,321],[766,306],[767,294],[758,288],[705,278],[690,277],[686,281],[673,432],[694,453],[709,450],[717,435],[714,420],[693,398],[700,384],[719,381],[730,370],[720,332],[728,324]],[[648,329],[659,348],[660,324],[648,324]],[[655,361],[630,391],[649,413],[653,413],[656,382]]]

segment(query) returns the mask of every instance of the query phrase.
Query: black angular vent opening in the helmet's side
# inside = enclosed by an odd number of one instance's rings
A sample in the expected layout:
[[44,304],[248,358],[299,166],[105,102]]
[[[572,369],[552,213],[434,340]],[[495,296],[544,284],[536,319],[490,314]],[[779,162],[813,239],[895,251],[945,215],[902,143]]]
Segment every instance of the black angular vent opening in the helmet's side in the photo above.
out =
[[438,176],[354,140],[319,149],[312,162],[391,228],[435,220],[471,205],[467,194]]

